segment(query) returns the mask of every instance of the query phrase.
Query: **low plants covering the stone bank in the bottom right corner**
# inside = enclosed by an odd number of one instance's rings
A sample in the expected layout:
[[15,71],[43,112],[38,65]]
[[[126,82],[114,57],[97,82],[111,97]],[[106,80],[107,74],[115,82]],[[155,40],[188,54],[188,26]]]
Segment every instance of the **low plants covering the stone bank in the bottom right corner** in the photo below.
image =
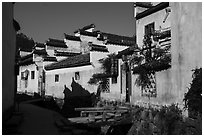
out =
[[139,107],[132,112],[134,122],[129,135],[188,135],[201,134],[202,131],[201,118],[184,118],[175,104],[161,109]]

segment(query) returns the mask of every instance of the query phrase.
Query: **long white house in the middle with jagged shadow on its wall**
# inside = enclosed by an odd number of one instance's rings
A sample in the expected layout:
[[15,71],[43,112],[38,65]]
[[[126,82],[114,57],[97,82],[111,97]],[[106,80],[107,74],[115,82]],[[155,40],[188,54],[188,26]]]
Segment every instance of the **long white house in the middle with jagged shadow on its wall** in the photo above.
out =
[[[101,72],[100,59],[108,54],[122,51],[130,46],[135,46],[134,37],[119,36],[100,31],[94,31],[95,25],[91,24],[75,31],[75,36],[65,34],[66,43],[70,40],[80,41],[81,54],[61,60],[45,66],[46,70],[46,95],[63,98],[65,86],[72,90],[72,82],[75,81],[90,93],[97,92],[97,85],[90,85],[88,81],[95,73]],[[76,44],[77,45],[77,44]],[[73,48],[71,48],[73,49]],[[119,62],[120,64],[120,62]],[[120,68],[119,68],[120,69]],[[105,99],[120,99],[120,74],[116,80],[109,78],[107,88],[101,94]]]

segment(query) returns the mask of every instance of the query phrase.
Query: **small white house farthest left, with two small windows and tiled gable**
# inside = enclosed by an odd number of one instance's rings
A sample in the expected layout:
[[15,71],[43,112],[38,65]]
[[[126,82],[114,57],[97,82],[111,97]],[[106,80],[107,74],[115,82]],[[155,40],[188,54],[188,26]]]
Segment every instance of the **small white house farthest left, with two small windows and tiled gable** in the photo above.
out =
[[48,55],[43,43],[36,43],[30,54],[20,58],[17,91],[42,94],[45,78],[43,66],[56,61],[56,57]]

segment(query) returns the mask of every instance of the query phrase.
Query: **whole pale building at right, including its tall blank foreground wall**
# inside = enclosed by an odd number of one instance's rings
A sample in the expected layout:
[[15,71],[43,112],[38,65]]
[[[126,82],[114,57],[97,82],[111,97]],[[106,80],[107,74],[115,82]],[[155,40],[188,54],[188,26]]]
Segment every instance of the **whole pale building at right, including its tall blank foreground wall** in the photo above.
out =
[[[183,106],[184,94],[192,80],[192,70],[202,67],[200,4],[168,2],[134,4],[138,48],[130,47],[117,55],[126,68],[129,68],[125,70],[122,80],[125,82],[121,84],[121,92],[124,90],[127,102],[142,105],[178,103],[179,106]],[[144,47],[144,36],[147,34],[153,34],[150,47]],[[152,51],[154,48],[168,48],[166,55],[170,55],[171,61],[167,68],[151,75],[149,77],[151,85],[143,88],[136,84],[138,75],[133,73],[137,64],[132,64],[131,59],[138,56],[141,50]]]

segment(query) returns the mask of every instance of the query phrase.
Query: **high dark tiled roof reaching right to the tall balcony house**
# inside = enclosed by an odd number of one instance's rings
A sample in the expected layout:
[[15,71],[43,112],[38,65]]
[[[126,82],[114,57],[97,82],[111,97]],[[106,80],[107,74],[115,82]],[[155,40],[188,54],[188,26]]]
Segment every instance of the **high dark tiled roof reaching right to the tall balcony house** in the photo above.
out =
[[98,40],[106,40],[106,44],[132,46],[135,45],[135,37],[120,36],[110,33],[100,33]]

